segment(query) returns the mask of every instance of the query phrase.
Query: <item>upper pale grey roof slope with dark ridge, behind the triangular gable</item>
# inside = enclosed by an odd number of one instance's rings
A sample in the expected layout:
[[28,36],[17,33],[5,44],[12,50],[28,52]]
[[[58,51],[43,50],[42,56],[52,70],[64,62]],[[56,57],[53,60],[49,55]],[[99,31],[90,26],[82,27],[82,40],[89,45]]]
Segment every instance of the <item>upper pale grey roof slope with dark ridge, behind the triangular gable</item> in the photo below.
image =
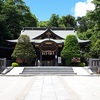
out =
[[21,31],[21,34],[24,34],[24,35],[26,34],[30,37],[30,39],[34,39],[34,38],[44,34],[48,30],[51,31],[52,33],[56,34],[57,36],[61,37],[62,39],[65,39],[66,36],[70,35],[70,34],[76,35],[75,30],[73,30],[73,29],[68,30],[65,28],[58,28],[58,30],[57,30],[57,28],[53,28],[53,29],[47,28],[45,30],[44,30],[44,28],[39,29],[39,30],[37,30],[37,29],[33,29],[33,30],[32,29],[31,30],[24,29]]

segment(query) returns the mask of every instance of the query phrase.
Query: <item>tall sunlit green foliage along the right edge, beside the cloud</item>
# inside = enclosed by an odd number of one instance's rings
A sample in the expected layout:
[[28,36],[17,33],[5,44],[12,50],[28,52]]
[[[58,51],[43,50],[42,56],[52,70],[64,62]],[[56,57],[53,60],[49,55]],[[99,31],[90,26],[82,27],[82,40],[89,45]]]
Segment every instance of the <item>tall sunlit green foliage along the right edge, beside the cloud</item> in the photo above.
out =
[[[84,18],[80,18],[82,23],[79,24],[78,35],[81,39],[89,39],[91,40],[91,44],[89,48],[85,48],[86,54],[88,57],[96,57],[98,58],[100,55],[100,1],[93,0],[92,3],[95,5],[95,9],[93,11],[89,11],[87,15],[84,17],[85,20],[82,21]],[[87,24],[84,24],[87,22]],[[84,24],[84,25],[83,25]],[[87,26],[86,31],[80,31],[81,26]],[[84,29],[84,27],[83,27]],[[85,54],[85,55],[86,55]]]

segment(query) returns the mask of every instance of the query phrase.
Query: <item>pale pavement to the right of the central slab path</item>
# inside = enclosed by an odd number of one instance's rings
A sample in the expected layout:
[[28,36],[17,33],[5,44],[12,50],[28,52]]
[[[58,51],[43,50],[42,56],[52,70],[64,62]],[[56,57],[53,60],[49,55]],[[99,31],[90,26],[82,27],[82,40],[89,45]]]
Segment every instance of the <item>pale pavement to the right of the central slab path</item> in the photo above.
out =
[[100,76],[63,77],[63,80],[79,100],[100,100]]

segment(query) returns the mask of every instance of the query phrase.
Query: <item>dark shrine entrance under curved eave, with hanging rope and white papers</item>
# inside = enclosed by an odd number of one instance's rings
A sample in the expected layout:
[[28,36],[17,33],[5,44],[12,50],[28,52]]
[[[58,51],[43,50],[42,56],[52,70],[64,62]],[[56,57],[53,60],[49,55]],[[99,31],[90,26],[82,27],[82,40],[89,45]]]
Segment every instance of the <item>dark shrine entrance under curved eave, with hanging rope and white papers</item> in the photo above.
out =
[[53,41],[44,41],[39,46],[42,66],[56,66],[58,45]]

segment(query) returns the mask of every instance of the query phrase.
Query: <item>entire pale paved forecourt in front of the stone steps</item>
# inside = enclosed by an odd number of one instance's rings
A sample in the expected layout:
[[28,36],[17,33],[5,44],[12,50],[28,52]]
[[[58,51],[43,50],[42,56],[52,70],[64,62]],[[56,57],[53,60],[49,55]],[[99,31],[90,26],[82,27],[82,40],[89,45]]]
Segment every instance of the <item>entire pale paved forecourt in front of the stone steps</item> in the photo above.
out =
[[0,100],[100,100],[100,76],[1,75]]

